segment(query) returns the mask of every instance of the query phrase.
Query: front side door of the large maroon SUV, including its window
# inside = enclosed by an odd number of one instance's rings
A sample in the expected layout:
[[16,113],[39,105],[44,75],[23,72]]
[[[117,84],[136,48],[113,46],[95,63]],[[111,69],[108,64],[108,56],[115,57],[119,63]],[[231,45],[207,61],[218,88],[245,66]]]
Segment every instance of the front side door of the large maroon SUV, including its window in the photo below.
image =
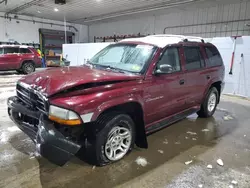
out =
[[182,71],[179,47],[168,47],[163,52],[160,65],[171,67],[167,72],[156,73],[145,89],[147,123],[152,123],[184,110],[185,75]]

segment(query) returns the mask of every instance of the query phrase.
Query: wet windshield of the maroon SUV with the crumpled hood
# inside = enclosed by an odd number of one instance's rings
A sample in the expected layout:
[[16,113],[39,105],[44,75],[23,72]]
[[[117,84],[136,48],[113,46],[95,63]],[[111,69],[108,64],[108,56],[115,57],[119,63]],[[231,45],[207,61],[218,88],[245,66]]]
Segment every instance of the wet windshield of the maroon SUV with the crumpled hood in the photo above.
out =
[[90,63],[108,69],[142,73],[156,47],[138,44],[115,44],[97,53]]

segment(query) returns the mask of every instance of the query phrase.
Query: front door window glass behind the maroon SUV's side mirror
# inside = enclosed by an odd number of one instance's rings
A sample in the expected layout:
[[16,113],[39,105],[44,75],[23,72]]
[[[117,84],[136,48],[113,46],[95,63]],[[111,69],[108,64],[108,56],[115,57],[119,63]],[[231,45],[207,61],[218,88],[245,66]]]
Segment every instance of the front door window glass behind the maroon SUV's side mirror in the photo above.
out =
[[163,64],[171,65],[173,70],[172,72],[178,72],[181,70],[178,48],[166,49],[157,66]]

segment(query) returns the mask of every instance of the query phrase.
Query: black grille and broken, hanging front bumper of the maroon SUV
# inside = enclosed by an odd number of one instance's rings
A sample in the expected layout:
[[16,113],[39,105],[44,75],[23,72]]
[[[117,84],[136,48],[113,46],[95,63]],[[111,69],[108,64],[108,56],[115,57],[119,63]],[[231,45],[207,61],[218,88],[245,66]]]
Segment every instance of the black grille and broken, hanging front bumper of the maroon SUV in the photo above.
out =
[[[68,134],[69,129],[74,128],[63,129],[63,126],[51,121],[48,118],[48,102],[35,90],[18,84],[17,96],[10,97],[7,103],[12,121],[34,141],[37,151],[49,161],[64,165],[80,150],[81,144]],[[82,126],[76,129],[82,129]]]

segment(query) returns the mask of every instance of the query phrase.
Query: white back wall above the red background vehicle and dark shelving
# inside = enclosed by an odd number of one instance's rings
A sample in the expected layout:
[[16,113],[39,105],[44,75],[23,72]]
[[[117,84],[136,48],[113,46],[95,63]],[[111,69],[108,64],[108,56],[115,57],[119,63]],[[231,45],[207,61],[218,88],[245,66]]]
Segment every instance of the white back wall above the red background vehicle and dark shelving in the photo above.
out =
[[[0,13],[0,16],[3,15],[3,13]],[[53,24],[51,26],[49,24],[37,23],[36,21],[64,25],[63,22],[46,20],[41,18],[32,18],[28,16],[19,16],[19,18],[28,20],[33,19],[35,23],[22,20],[17,23],[17,20],[15,19],[9,20],[0,17],[0,41],[8,42],[9,40],[15,40],[19,43],[39,43],[38,30],[40,28],[64,31],[64,27],[62,26],[55,26]],[[78,32],[76,32],[74,29],[69,30],[69,28],[67,27],[68,31],[74,32],[76,34],[75,42],[88,42],[88,26],[80,24],[71,25],[75,26],[78,30]]]

